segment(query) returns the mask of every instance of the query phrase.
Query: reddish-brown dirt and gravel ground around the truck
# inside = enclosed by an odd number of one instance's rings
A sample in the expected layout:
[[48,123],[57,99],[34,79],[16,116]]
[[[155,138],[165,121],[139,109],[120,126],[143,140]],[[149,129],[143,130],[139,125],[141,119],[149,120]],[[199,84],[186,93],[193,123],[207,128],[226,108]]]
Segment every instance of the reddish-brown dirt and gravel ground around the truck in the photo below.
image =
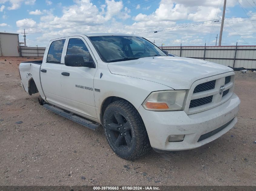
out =
[[256,185],[256,73],[236,72],[241,105],[229,132],[197,149],[126,161],[103,130],[48,111],[39,94],[25,93],[18,65],[30,60],[0,57],[0,185]]

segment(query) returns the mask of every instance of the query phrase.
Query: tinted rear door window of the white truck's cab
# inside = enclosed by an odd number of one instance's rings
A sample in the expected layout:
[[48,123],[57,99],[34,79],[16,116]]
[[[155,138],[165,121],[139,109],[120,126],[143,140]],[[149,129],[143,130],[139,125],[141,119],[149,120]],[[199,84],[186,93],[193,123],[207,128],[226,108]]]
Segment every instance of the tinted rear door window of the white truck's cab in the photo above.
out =
[[47,55],[46,62],[61,63],[62,50],[65,39],[53,41]]

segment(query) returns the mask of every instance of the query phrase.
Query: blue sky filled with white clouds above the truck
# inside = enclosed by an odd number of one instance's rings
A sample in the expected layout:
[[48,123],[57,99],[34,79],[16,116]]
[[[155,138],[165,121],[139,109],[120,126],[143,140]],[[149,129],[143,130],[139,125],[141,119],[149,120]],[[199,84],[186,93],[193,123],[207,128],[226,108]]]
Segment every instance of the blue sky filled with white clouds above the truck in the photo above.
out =
[[[224,0],[0,0],[0,31],[28,46],[77,33],[137,34],[158,46],[215,45]],[[256,44],[256,0],[227,0],[222,45]],[[215,22],[214,22],[215,21]],[[219,21],[219,22],[218,22]],[[158,31],[154,33],[154,31]]]

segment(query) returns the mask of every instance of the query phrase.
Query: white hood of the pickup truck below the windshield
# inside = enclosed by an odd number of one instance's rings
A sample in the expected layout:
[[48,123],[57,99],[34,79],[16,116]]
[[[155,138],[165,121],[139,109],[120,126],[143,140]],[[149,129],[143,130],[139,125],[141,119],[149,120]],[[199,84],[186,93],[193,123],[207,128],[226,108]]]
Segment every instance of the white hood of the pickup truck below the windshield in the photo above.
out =
[[112,74],[154,81],[175,90],[190,89],[194,81],[233,69],[199,59],[156,56],[122,62],[110,62]]

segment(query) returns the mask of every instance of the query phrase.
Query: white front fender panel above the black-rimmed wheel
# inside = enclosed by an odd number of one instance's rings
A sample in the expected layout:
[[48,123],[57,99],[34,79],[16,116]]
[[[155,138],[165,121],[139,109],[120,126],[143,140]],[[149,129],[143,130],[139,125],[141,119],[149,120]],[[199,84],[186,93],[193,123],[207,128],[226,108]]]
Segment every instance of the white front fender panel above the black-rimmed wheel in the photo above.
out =
[[95,74],[95,104],[98,119],[101,119],[101,107],[108,97],[120,97],[128,100],[137,110],[152,91],[172,90],[170,87],[156,82],[111,74],[105,71],[100,78],[100,70]]

